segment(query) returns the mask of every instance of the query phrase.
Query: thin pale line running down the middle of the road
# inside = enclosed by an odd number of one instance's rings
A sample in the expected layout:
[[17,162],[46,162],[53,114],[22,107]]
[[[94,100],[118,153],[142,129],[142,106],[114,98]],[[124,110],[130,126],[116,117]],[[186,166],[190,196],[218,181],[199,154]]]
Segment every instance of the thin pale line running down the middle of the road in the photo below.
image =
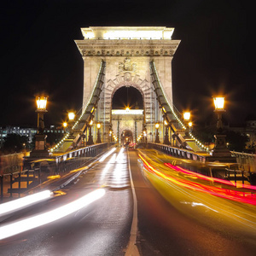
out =
[[136,238],[137,238],[137,196],[134,189],[134,184],[132,181],[132,175],[131,175],[131,164],[130,164],[130,155],[129,152],[127,152],[128,155],[128,167],[130,172],[130,181],[131,181],[131,191],[132,191],[132,197],[133,197],[133,218],[131,223],[131,232],[130,232],[130,240],[128,243],[128,247],[125,252],[125,256],[139,256],[140,253],[138,252],[137,245],[136,245]]

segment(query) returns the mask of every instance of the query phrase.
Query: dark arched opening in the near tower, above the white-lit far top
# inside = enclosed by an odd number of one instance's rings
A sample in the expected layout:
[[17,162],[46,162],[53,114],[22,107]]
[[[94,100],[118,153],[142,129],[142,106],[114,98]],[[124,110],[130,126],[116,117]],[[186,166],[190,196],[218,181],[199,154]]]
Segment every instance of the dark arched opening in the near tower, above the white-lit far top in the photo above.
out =
[[143,109],[143,96],[132,86],[123,86],[115,91],[112,98],[112,109]]

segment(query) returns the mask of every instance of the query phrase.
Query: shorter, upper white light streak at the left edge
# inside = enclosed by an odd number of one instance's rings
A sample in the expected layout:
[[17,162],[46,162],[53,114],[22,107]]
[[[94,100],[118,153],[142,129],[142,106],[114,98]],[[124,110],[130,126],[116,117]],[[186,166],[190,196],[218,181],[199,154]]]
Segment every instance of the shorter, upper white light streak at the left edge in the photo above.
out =
[[33,195],[27,195],[14,201],[3,203],[0,205],[0,216],[2,214],[17,211],[23,207],[31,206],[32,204],[37,203],[39,201],[49,199],[51,195],[53,195],[51,191],[44,190]]

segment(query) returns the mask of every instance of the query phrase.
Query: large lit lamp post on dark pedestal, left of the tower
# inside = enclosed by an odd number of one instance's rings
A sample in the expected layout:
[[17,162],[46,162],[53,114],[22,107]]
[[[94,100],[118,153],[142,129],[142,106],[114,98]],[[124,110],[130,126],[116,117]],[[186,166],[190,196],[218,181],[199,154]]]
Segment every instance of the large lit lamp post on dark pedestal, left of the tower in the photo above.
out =
[[49,155],[48,150],[46,149],[46,135],[44,134],[44,113],[47,112],[48,96],[36,96],[37,110],[38,113],[38,133],[35,135],[36,142],[35,148],[31,152],[32,157],[41,157]]

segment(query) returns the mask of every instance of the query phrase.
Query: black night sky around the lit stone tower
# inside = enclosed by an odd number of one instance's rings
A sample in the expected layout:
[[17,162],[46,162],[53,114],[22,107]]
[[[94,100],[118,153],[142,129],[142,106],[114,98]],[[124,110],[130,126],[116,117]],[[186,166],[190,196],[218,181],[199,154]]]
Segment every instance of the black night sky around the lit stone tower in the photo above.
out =
[[79,110],[83,60],[74,43],[86,26],[175,27],[180,39],[172,62],[176,107],[195,120],[212,113],[223,92],[231,122],[256,113],[253,6],[238,0],[76,1],[1,3],[0,125],[36,125],[34,95],[49,95],[46,125]]

